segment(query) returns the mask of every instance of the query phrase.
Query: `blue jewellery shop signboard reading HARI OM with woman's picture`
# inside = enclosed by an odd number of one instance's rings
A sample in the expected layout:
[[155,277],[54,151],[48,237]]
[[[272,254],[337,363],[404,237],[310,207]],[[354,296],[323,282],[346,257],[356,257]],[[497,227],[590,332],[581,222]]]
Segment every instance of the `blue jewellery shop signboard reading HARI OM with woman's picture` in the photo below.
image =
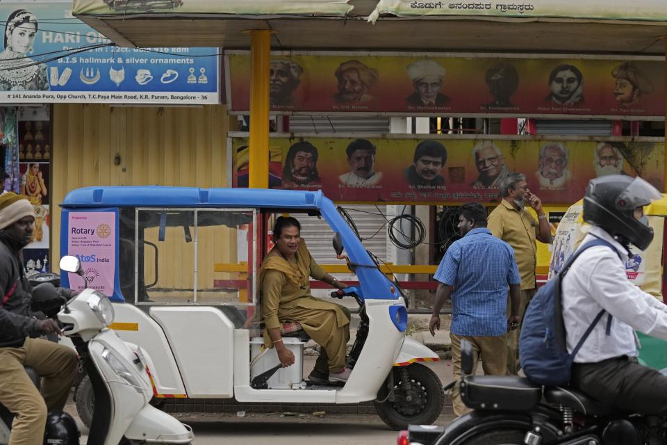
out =
[[0,3],[0,102],[220,102],[217,48],[120,48],[71,8]]

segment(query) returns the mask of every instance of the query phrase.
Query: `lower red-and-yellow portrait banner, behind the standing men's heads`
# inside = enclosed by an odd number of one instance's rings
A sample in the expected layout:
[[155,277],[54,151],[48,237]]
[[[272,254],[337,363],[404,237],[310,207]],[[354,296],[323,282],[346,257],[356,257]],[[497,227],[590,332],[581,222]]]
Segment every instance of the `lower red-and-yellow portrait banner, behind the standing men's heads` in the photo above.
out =
[[[247,186],[247,138],[232,138],[233,186]],[[510,172],[545,203],[581,199],[591,178],[641,175],[664,186],[664,143],[635,140],[272,138],[270,188],[336,202],[497,202]]]

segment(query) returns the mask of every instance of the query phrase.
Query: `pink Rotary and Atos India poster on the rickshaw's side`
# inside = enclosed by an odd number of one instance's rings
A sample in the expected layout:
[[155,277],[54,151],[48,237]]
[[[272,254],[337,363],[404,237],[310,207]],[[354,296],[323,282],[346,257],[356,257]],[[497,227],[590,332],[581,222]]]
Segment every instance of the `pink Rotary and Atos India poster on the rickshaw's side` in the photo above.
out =
[[[116,252],[116,213],[113,211],[67,213],[67,252],[81,261],[89,289],[113,295]],[[83,279],[69,273],[71,289],[85,289]]]

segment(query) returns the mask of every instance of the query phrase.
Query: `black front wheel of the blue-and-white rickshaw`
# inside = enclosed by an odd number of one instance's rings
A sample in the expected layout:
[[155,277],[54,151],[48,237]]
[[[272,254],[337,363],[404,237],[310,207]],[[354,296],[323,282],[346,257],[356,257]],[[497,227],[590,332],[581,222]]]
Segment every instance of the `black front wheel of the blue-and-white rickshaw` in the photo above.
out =
[[[445,394],[438,375],[420,363],[394,366],[393,401],[389,401],[386,380],[377,394],[375,410],[380,419],[394,430],[409,424],[431,425],[443,412]],[[407,378],[406,378],[407,374]]]

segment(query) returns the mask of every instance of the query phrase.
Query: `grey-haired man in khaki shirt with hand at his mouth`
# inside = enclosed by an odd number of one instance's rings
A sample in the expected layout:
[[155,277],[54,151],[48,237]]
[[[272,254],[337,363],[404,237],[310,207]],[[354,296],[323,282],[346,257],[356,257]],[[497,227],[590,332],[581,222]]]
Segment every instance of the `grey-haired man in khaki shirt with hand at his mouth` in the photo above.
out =
[[[514,257],[521,275],[521,304],[519,316],[523,318],[528,302],[535,295],[535,266],[537,246],[535,240],[551,243],[551,229],[542,202],[530,193],[523,173],[511,173],[500,181],[502,201],[488,216],[488,229],[514,249]],[[525,209],[525,204],[537,213],[538,220]],[[509,305],[508,305],[509,307]],[[509,313],[508,313],[509,315]],[[507,373],[519,372],[518,330],[507,334]]]

